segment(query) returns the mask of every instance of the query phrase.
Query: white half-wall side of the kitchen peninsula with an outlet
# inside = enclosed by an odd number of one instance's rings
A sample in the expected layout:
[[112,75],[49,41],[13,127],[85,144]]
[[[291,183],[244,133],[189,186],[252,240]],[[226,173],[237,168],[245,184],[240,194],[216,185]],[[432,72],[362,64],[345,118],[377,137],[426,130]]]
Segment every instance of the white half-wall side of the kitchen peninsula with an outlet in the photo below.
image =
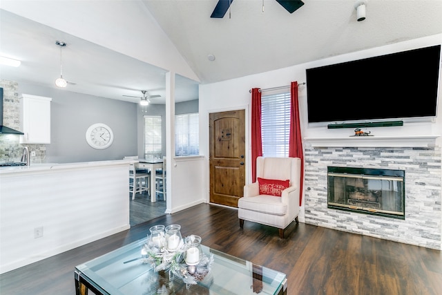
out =
[[130,228],[131,162],[0,168],[0,274]]

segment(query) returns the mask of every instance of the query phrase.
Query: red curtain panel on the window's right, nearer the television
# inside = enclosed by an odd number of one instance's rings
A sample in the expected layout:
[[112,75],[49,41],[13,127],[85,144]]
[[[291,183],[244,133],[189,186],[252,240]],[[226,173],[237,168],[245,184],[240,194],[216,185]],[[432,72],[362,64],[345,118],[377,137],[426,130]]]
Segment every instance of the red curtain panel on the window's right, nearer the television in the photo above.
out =
[[290,84],[291,106],[290,106],[290,137],[289,137],[289,157],[301,159],[300,175],[300,198],[299,205],[302,204],[302,187],[304,184],[304,153],[302,149],[302,136],[299,120],[298,104],[298,82]]

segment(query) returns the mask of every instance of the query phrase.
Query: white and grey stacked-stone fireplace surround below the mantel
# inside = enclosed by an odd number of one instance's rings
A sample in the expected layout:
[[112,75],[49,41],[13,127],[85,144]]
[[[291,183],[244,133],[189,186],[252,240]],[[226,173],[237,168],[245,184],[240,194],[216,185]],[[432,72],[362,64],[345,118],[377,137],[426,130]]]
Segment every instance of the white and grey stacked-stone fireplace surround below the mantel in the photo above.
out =
[[[305,223],[441,250],[441,147],[340,147],[335,140],[305,139]],[[327,166],[405,170],[405,220],[327,209]]]

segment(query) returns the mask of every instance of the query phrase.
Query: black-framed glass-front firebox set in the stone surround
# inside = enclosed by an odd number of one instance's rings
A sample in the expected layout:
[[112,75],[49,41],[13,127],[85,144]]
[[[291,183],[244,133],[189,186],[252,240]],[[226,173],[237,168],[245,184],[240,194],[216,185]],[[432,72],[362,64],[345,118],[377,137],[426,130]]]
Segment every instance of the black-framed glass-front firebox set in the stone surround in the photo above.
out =
[[405,219],[405,171],[328,166],[327,207]]

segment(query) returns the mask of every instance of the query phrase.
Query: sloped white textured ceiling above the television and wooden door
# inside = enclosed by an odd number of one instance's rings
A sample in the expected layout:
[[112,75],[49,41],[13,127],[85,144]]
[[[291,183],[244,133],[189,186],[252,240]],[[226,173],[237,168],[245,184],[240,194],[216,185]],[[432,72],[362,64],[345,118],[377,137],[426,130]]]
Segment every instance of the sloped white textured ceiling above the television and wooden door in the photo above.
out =
[[[442,1],[369,0],[365,21],[356,1],[311,0],[290,14],[275,0],[235,0],[210,19],[216,0],[143,0],[203,83],[442,32]],[[207,56],[214,55],[215,61]]]

